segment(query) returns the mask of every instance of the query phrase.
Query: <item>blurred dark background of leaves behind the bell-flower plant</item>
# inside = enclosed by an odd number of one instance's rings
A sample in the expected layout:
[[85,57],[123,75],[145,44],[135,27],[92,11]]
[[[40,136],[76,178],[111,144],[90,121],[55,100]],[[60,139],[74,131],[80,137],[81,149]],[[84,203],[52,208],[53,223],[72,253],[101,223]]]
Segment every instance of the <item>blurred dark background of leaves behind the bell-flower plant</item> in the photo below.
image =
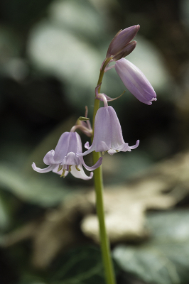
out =
[[85,105],[92,119],[109,43],[136,24],[126,59],[144,72],[157,102],[139,102],[114,69],[102,83],[109,97],[126,90],[110,105],[124,141],[140,140],[131,153],[104,155],[117,283],[189,282],[188,19],[187,0],[1,1],[1,284],[104,283],[92,180],[41,175],[31,163],[45,168],[45,153]]

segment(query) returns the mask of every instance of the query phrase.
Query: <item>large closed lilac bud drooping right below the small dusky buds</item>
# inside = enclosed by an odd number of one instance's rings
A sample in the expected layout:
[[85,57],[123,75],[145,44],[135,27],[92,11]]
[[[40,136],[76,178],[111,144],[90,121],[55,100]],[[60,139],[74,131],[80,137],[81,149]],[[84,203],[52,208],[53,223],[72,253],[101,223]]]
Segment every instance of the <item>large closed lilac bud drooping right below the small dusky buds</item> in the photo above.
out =
[[134,64],[121,58],[116,62],[115,70],[125,87],[129,89],[131,94],[134,94],[136,99],[149,105],[152,104],[152,101],[156,101],[156,92],[141,70]]

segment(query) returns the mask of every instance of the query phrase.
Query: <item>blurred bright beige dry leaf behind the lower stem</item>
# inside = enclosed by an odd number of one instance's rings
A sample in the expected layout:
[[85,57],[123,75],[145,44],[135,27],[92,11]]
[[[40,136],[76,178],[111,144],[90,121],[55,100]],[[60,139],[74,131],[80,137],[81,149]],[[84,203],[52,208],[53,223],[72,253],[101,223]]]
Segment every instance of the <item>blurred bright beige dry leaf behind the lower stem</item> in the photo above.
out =
[[[135,179],[127,185],[112,185],[104,189],[104,210],[107,234],[112,243],[144,239],[149,232],[146,228],[146,211],[148,209],[168,209],[177,199],[165,194],[162,180],[148,178]],[[93,192],[92,192],[93,193]],[[94,202],[95,194],[88,200]],[[95,214],[86,214],[82,219],[83,233],[99,242],[99,224]]]

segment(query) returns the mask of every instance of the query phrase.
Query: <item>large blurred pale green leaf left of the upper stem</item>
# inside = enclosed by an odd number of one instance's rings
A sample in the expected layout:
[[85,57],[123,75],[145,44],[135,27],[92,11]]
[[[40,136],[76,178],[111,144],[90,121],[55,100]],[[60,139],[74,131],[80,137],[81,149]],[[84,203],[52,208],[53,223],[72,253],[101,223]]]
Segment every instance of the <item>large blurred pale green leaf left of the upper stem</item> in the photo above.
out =
[[[28,53],[39,70],[54,75],[65,84],[72,105],[83,109],[81,96],[85,104],[92,104],[103,59],[91,43],[62,26],[43,21],[29,35]],[[91,93],[94,97],[89,96]]]

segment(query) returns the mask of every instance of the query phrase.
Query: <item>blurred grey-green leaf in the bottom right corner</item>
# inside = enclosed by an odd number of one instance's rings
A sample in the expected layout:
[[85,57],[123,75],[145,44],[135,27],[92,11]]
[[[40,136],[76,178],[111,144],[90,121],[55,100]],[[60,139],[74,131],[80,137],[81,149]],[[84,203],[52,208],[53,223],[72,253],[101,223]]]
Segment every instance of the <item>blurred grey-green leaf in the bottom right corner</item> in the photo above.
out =
[[114,258],[126,272],[157,284],[189,281],[188,211],[148,215],[151,239],[137,246],[117,246]]

